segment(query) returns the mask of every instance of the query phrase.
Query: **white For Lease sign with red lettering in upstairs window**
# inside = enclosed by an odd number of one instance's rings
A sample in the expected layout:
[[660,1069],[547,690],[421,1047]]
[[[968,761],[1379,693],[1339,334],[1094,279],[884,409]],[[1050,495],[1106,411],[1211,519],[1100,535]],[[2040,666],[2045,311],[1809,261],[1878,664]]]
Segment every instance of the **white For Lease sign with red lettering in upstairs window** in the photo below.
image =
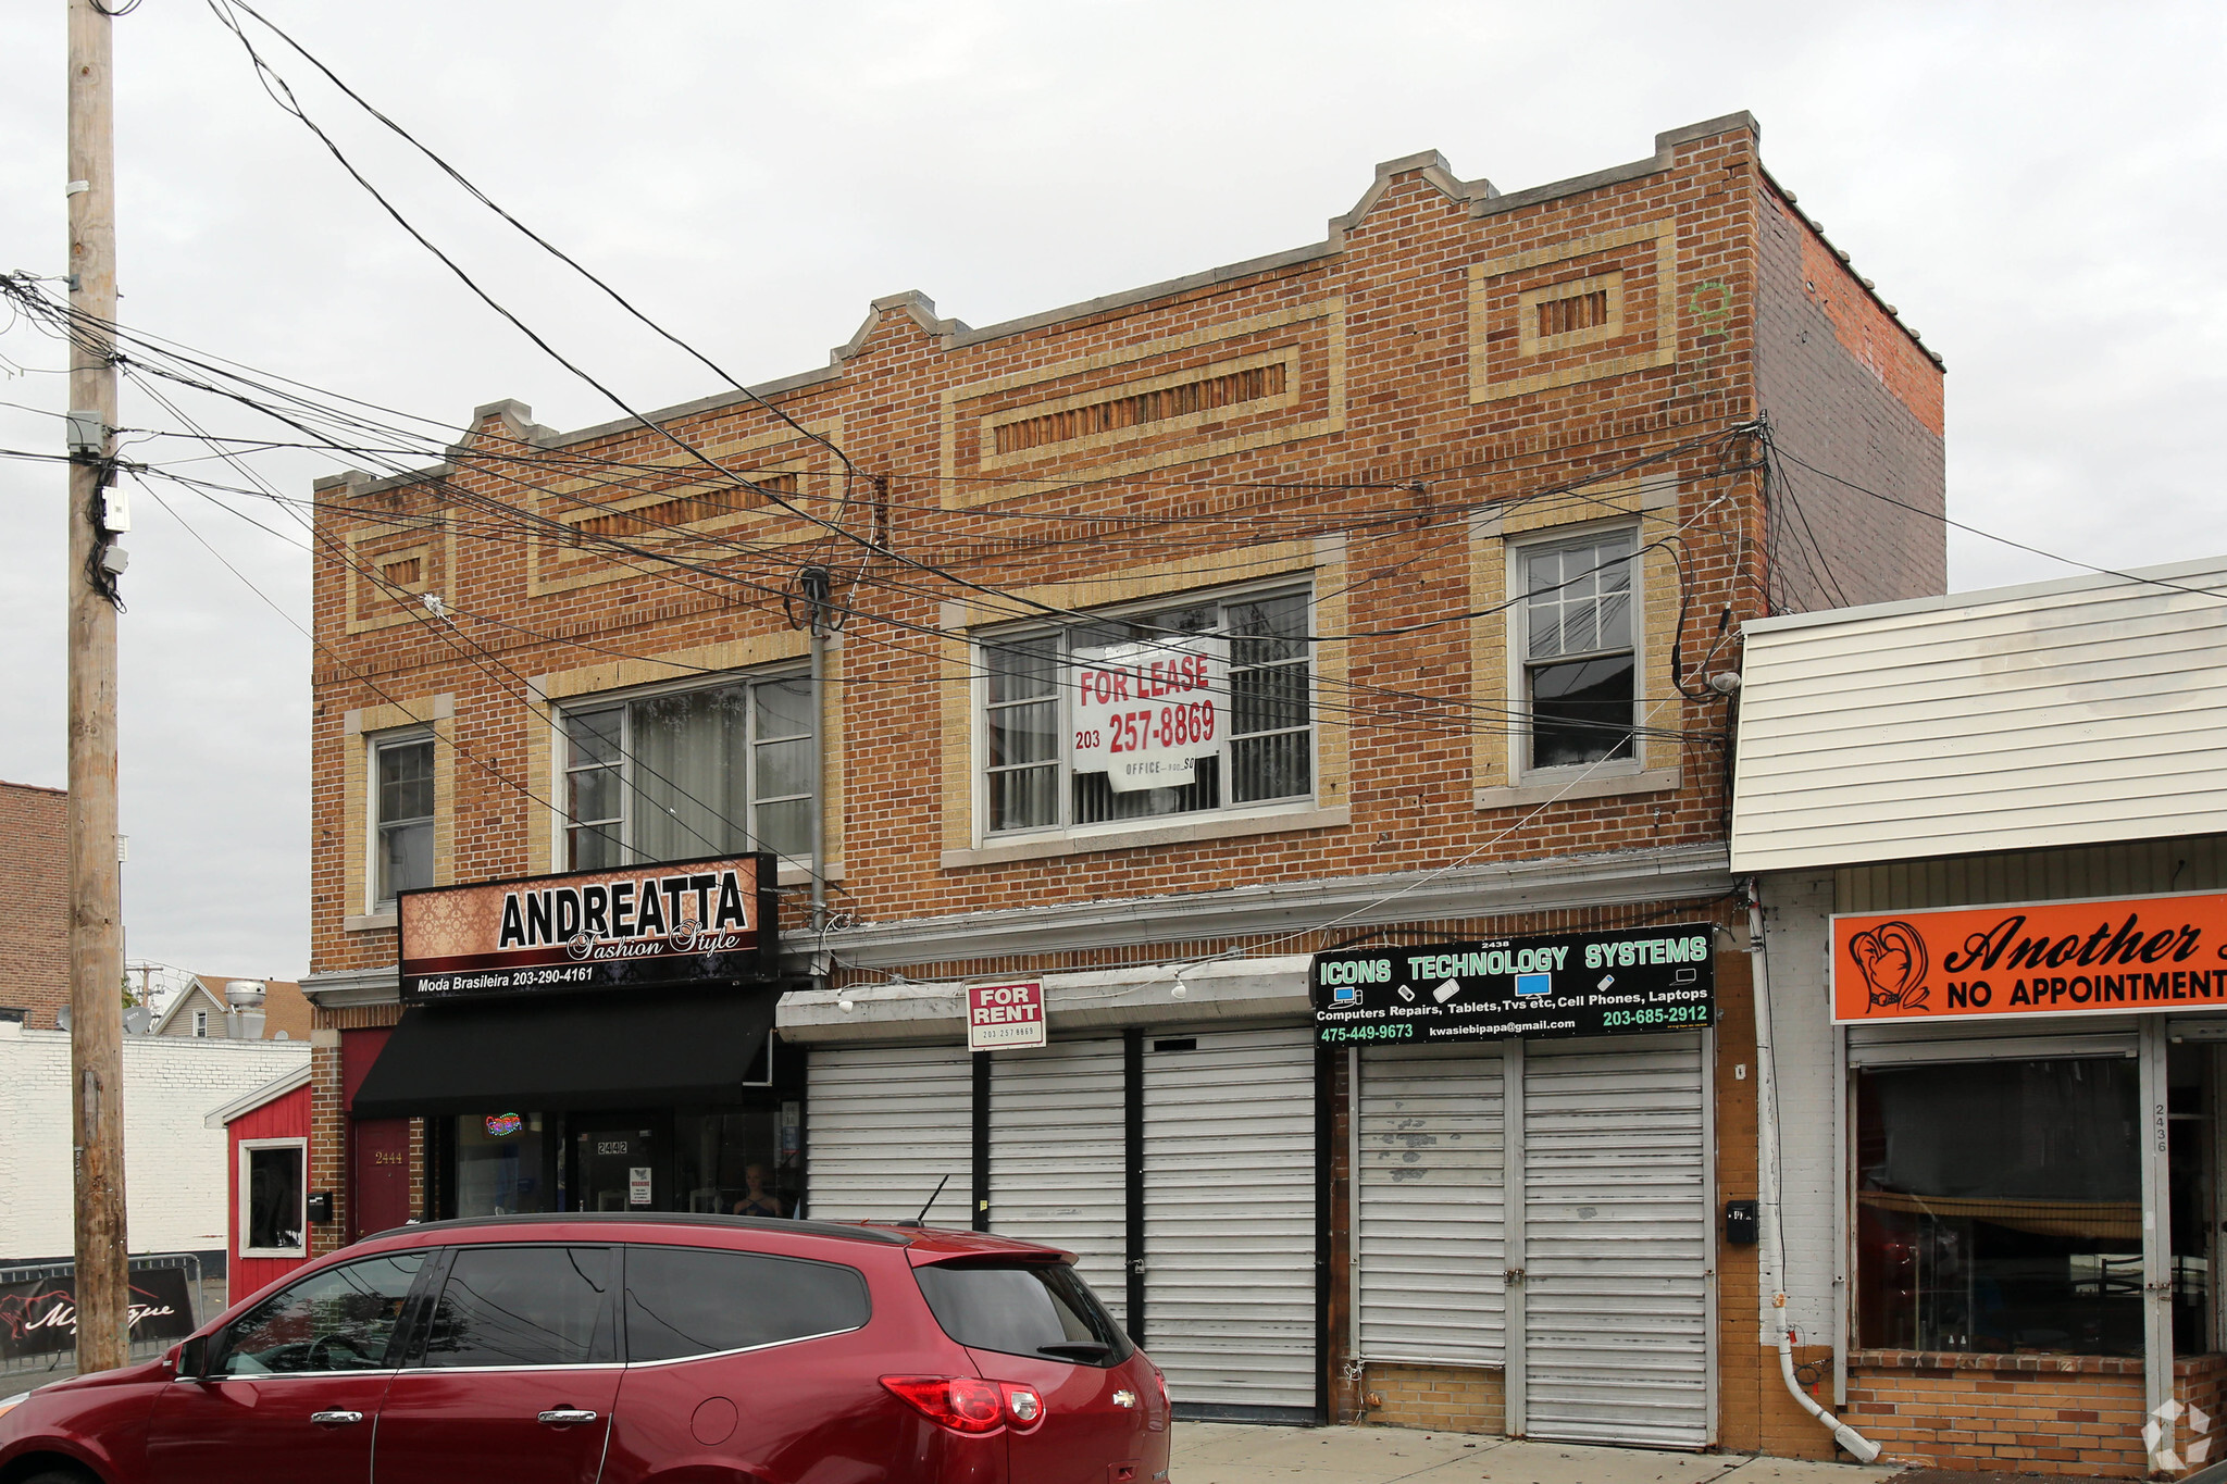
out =
[[1076,650],[1076,772],[1102,772],[1114,792],[1183,788],[1198,759],[1220,752],[1229,708],[1229,641],[1171,634]]

